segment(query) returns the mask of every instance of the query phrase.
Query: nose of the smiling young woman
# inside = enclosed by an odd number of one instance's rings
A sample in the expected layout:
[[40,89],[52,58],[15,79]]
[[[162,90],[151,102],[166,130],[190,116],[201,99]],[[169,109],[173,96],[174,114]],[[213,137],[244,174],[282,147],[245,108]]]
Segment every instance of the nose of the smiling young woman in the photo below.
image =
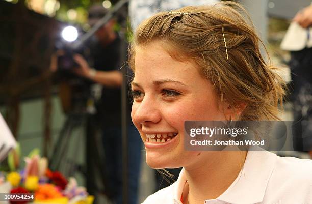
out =
[[152,96],[145,95],[141,102],[134,101],[132,111],[135,122],[142,125],[158,123],[161,120],[159,105]]

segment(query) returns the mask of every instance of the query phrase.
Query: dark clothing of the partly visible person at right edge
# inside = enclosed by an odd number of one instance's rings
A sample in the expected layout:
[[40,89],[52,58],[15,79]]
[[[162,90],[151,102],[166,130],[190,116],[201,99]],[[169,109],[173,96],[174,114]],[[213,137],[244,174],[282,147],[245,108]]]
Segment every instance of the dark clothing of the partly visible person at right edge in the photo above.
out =
[[295,151],[312,150],[312,48],[291,52],[294,91],[293,142]]

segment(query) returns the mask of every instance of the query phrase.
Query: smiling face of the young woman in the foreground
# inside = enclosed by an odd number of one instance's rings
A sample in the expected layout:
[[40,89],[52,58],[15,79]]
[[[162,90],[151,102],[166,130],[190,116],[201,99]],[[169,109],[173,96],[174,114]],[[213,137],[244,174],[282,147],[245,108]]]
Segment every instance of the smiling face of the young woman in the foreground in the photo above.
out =
[[196,64],[174,60],[159,42],[137,48],[135,64],[132,119],[145,143],[147,163],[153,168],[188,166],[197,153],[184,150],[184,121],[225,120],[211,83]]

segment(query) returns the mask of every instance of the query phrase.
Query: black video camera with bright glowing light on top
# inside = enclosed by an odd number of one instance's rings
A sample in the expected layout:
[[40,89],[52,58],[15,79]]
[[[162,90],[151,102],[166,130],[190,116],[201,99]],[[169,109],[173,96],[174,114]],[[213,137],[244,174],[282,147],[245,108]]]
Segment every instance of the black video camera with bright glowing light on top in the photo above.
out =
[[[64,26],[56,40],[55,49],[57,55],[57,77],[59,85],[59,97],[64,113],[82,113],[88,108],[88,101],[93,98],[91,92],[92,81],[76,75],[73,71],[79,67],[73,56],[80,54],[92,66],[90,49],[96,46],[91,36],[84,43],[77,46],[79,35],[85,35],[80,27],[72,25]],[[95,50],[95,49],[93,49]]]

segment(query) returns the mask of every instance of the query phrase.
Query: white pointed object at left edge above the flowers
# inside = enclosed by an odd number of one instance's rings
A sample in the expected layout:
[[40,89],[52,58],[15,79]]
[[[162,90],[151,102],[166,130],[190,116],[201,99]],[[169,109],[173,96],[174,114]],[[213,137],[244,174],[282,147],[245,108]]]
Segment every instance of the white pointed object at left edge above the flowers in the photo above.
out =
[[3,116],[0,114],[0,162],[4,160],[11,149],[16,147],[16,140],[13,137]]

